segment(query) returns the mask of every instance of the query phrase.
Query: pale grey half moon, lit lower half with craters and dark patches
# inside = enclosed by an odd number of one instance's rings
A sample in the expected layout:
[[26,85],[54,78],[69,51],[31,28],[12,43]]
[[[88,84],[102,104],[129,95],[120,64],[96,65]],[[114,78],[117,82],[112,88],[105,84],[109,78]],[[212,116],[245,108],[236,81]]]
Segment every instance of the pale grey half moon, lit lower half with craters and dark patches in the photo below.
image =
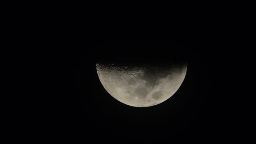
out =
[[187,63],[150,65],[96,63],[99,80],[118,101],[133,107],[150,107],[166,101],[181,86]]

